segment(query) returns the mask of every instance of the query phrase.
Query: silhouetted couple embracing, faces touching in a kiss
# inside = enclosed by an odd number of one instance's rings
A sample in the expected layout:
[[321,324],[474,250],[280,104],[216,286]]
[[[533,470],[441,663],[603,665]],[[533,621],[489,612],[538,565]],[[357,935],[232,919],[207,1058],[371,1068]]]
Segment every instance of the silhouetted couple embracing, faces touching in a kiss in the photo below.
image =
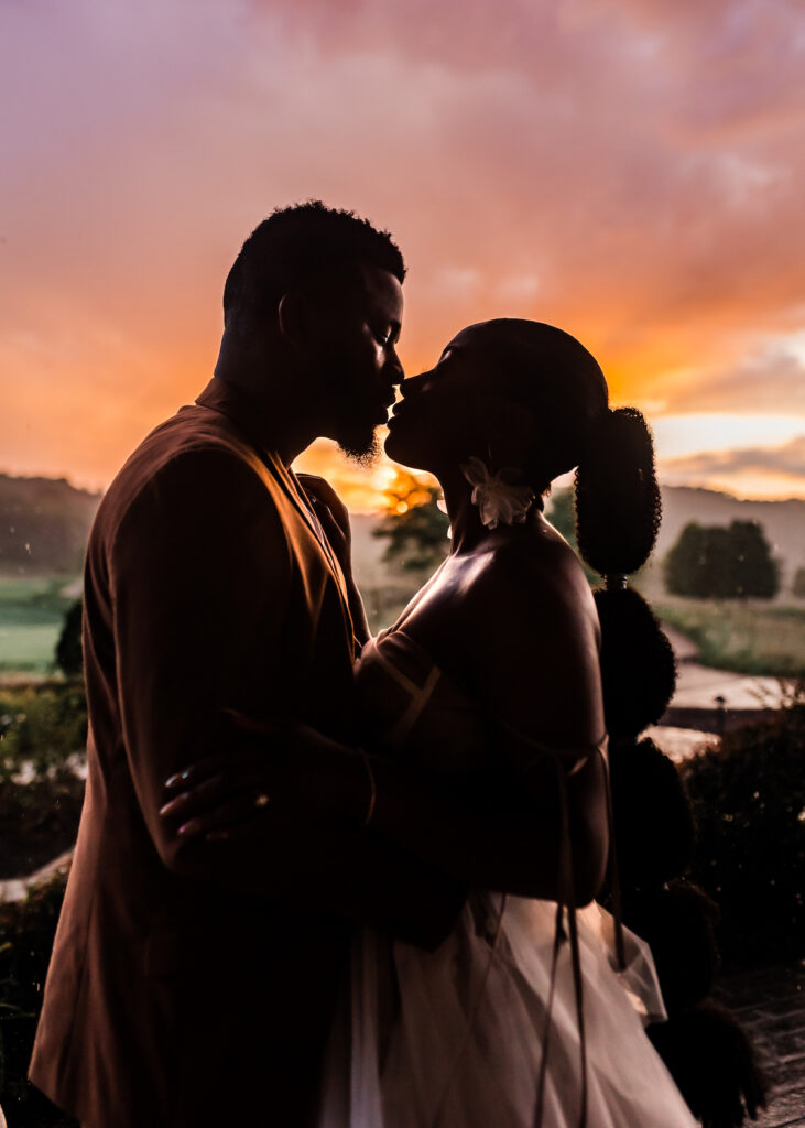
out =
[[[537,321],[404,380],[405,273],[351,212],[274,212],[213,379],[98,511],[87,797],[30,1067],[83,1128],[693,1123],[643,1033],[651,953],[594,901],[600,627],[542,513],[578,467],[654,521],[651,437]],[[439,478],[452,544],[371,638],[346,510],[292,464],[320,435],[371,457],[398,387],[386,449]],[[603,557],[616,535],[589,532]]]

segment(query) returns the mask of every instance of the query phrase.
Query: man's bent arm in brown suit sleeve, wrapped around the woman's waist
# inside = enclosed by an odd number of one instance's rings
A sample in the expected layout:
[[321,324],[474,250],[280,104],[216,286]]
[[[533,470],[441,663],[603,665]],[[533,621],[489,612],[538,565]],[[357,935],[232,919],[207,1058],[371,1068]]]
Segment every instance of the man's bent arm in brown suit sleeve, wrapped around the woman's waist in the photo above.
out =
[[266,812],[260,849],[184,843],[159,809],[172,773],[239,739],[225,710],[294,708],[282,627],[291,557],[254,470],[225,450],[163,468],[132,503],[110,549],[120,711],[145,823],[165,865],[288,905],[372,919],[423,944],[449,927],[461,890],[361,831]]

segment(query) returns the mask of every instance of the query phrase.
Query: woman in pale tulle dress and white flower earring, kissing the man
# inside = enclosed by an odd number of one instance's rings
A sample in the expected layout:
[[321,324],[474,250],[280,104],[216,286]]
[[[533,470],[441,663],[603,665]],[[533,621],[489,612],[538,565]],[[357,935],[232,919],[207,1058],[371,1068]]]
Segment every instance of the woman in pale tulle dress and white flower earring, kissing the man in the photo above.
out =
[[580,540],[596,561],[614,549],[602,571],[619,584],[656,531],[645,423],[610,412],[573,337],[496,320],[405,381],[386,449],[439,478],[450,556],[364,647],[368,752],[310,743],[307,774],[269,767],[265,785],[321,803],[326,779],[328,807],[472,892],[433,953],[356,935],[321,1128],[688,1128],[642,1029],[662,1013],[651,955],[592,900],[608,855],[600,628],[541,501],[580,467]]

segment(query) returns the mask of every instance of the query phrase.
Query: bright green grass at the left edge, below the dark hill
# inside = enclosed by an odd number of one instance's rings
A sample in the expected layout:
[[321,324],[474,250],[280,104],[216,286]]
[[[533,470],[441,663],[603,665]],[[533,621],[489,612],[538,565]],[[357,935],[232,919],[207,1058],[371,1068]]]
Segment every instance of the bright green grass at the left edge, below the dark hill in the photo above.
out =
[[0,671],[47,673],[74,576],[0,578]]

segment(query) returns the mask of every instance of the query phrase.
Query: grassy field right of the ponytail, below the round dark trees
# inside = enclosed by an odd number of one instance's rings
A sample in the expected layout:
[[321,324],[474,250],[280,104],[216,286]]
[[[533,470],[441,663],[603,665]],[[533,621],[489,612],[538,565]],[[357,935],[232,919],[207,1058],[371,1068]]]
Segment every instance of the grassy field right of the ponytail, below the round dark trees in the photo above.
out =
[[705,666],[736,673],[805,676],[805,607],[679,597],[653,606],[663,623],[693,640]]

